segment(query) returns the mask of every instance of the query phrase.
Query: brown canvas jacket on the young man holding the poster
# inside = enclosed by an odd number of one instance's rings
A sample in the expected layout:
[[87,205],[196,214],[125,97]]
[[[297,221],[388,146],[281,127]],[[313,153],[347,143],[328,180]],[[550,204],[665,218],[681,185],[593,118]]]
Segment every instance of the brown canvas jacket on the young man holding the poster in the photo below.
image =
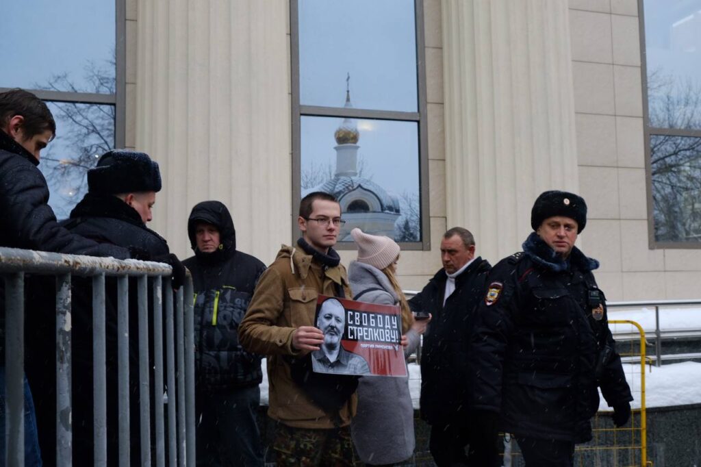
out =
[[[268,356],[270,407],[268,416],[297,428],[334,428],[329,416],[292,381],[284,356],[299,356],[292,347],[292,332],[315,326],[319,294],[336,295],[336,284],[352,297],[342,264],[324,269],[304,250],[283,245],[273,264],[261,276],[238,332],[241,345]],[[342,425],[355,414],[355,394],[339,412]]]

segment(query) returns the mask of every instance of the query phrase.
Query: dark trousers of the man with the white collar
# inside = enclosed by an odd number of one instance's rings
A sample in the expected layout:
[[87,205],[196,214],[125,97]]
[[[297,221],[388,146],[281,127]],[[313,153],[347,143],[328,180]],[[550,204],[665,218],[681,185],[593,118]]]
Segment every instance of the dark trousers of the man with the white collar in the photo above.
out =
[[[475,430],[479,430],[479,426],[466,427],[455,424],[431,426],[428,449],[436,466],[494,467],[501,465],[496,440],[494,443],[482,444],[470,442],[478,439]],[[468,447],[467,453],[465,453],[465,447]]]

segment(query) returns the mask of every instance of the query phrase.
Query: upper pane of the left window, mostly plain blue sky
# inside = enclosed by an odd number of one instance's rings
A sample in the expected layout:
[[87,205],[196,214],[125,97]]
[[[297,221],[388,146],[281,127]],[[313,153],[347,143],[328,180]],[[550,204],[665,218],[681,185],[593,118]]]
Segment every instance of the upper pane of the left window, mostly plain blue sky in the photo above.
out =
[[114,93],[91,79],[114,81],[114,18],[114,1],[4,1],[0,87]]

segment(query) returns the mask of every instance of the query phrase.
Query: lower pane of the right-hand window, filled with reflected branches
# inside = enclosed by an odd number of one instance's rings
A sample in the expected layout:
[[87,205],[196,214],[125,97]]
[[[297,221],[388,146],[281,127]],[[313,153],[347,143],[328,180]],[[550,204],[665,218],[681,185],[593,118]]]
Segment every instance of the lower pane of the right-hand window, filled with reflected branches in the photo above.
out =
[[651,135],[655,240],[701,241],[701,138]]

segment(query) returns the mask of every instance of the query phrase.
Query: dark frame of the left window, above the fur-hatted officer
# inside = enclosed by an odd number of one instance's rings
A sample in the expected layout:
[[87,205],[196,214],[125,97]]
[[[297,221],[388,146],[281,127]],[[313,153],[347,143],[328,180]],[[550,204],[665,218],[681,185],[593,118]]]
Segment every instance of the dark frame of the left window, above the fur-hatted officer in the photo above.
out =
[[[99,93],[72,93],[69,91],[55,91],[23,88],[49,102],[71,102],[76,104],[107,104],[114,105],[114,147],[124,147],[126,133],[126,0],[114,0],[115,2],[115,88],[114,94]],[[0,93],[13,88],[1,88]],[[60,128],[58,129],[60,132]]]

